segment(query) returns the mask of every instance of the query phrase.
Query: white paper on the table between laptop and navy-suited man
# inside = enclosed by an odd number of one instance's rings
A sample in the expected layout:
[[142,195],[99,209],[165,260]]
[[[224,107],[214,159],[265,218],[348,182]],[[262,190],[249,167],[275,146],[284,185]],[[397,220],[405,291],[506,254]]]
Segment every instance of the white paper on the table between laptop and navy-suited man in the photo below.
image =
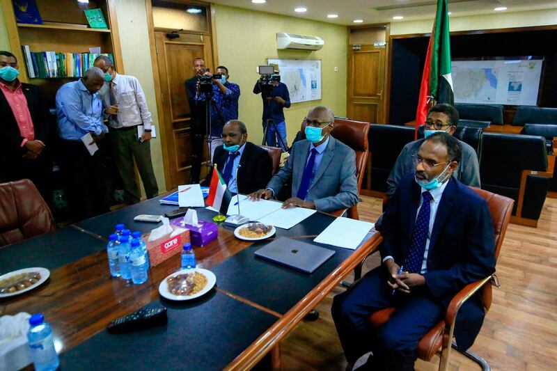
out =
[[336,218],[313,242],[356,250],[375,223]]

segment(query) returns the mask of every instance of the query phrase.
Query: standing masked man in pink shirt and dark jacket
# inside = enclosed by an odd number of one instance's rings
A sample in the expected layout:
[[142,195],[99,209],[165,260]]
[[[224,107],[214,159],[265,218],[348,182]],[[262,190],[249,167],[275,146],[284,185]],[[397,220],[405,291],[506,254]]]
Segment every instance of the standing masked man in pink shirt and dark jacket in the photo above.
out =
[[17,68],[17,58],[0,51],[0,182],[30,179],[50,203],[49,112],[39,88],[17,79]]

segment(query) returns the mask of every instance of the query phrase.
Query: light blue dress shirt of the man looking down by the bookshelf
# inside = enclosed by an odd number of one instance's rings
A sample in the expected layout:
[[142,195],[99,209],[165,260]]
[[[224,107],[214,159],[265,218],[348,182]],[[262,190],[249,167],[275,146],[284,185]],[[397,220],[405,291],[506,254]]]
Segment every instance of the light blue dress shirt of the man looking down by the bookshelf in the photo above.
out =
[[56,123],[58,135],[62,139],[79,141],[87,133],[107,133],[109,129],[102,120],[102,101],[99,93],[89,93],[81,79],[68,82],[58,89]]

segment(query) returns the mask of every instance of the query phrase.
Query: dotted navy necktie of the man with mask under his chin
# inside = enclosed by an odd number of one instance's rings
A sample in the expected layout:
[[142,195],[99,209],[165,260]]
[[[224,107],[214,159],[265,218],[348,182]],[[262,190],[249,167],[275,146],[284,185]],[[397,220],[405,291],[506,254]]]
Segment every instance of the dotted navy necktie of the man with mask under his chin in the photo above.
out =
[[423,254],[425,253],[425,242],[427,233],[430,231],[430,201],[433,199],[429,191],[422,193],[422,207],[416,218],[412,244],[405,260],[405,271],[410,273],[420,273],[422,269]]

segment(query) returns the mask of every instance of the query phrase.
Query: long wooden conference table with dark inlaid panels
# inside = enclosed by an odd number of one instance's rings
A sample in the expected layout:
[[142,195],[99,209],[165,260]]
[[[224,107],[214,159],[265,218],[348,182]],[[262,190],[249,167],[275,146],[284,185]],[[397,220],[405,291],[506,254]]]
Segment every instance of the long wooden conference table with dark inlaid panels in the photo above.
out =
[[[25,267],[50,269],[49,280],[30,292],[0,299],[0,315],[43,313],[52,325],[63,370],[244,370],[273,352],[280,340],[382,240],[368,235],[356,251],[327,246],[336,253],[313,274],[255,258],[262,242],[246,242],[232,228],[194,248],[198,267],[217,276],[217,287],[192,301],[168,301],[159,283],[180,267],[180,254],[150,269],[149,280],[133,285],[109,274],[106,237],[116,223],[145,233],[153,223],[138,214],[164,214],[175,206],[159,198],[81,221],[73,226],[0,248],[1,274]],[[214,212],[198,209],[210,220]],[[313,243],[334,221],[317,212],[276,237]],[[168,324],[111,335],[113,319],[143,307],[168,308]]]

